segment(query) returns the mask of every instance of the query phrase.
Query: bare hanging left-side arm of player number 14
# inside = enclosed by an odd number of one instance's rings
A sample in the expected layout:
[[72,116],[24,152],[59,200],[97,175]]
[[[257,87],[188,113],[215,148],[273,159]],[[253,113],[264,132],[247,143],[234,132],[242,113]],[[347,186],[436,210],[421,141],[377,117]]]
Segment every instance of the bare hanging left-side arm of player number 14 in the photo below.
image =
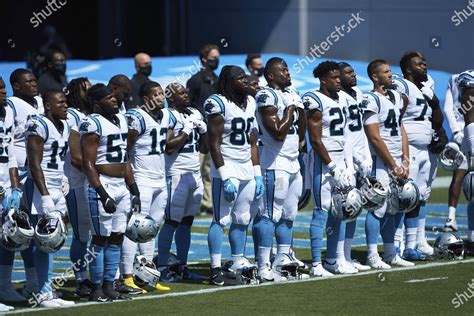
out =
[[26,141],[26,150],[28,165],[36,187],[41,195],[49,195],[48,188],[44,181],[43,169],[41,168],[44,150],[43,138],[38,135],[29,135]]

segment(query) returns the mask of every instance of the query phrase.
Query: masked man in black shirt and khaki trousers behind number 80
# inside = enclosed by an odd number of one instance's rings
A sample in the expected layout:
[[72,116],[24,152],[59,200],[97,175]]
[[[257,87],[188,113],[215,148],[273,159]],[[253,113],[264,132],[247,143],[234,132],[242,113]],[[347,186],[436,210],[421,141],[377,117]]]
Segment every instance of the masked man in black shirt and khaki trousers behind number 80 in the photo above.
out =
[[[191,104],[204,115],[204,101],[216,93],[217,75],[214,70],[219,67],[219,47],[213,44],[204,45],[199,50],[199,58],[203,68],[186,83],[186,87],[191,97]],[[204,195],[201,200],[201,211],[212,213],[211,195],[211,155],[200,154],[201,176],[204,184]]]

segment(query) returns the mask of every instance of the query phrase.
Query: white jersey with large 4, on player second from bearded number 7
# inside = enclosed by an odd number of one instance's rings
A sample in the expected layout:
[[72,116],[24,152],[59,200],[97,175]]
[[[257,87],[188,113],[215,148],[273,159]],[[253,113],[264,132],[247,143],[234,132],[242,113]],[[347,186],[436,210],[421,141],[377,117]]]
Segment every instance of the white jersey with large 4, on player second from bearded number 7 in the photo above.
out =
[[[364,94],[368,101],[365,113],[372,112],[377,115],[380,137],[392,157],[396,158],[402,156],[400,110],[403,107],[403,97],[396,90],[387,90],[387,92],[387,96],[379,92],[367,92]],[[367,122],[364,124],[368,125]],[[370,145],[370,150],[372,155],[377,154],[372,145]]]

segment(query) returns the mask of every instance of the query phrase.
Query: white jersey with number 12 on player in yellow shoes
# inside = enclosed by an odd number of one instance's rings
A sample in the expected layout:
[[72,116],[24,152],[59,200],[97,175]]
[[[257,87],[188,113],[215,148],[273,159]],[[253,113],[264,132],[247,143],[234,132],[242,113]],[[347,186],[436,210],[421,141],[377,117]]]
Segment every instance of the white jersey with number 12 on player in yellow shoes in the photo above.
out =
[[166,132],[171,124],[167,109],[161,111],[160,121],[140,108],[127,111],[128,129],[138,132],[135,145],[130,148],[130,163],[136,179],[165,183]]

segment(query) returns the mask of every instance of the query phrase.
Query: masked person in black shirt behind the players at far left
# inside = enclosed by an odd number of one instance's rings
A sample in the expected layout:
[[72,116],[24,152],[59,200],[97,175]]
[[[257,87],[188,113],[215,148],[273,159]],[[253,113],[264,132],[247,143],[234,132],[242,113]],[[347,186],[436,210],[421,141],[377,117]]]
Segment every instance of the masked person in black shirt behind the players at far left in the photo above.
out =
[[48,70],[38,80],[40,94],[51,89],[62,91],[67,86],[66,56],[58,50],[53,50],[47,56],[47,63]]

